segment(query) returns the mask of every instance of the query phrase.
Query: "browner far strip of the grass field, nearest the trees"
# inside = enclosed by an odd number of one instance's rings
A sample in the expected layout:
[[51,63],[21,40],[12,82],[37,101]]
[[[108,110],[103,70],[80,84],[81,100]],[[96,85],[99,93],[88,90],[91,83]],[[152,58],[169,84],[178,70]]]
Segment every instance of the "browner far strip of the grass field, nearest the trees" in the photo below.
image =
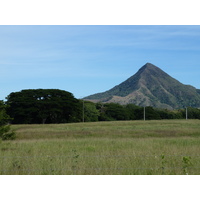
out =
[[144,138],[200,136],[199,120],[118,121],[49,125],[13,125],[17,140],[55,138]]

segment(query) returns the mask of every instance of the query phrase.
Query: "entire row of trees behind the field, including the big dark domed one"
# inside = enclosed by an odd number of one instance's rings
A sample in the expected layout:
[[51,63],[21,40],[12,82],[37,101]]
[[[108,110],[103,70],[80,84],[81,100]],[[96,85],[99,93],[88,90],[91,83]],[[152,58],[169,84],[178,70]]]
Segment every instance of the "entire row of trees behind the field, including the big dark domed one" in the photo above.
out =
[[[4,103],[7,121],[13,124],[44,124],[142,120],[144,108],[134,104],[92,103],[76,99],[72,93],[58,89],[13,92]],[[146,120],[184,119],[186,110],[145,107]],[[200,110],[188,108],[189,119],[200,119]]]

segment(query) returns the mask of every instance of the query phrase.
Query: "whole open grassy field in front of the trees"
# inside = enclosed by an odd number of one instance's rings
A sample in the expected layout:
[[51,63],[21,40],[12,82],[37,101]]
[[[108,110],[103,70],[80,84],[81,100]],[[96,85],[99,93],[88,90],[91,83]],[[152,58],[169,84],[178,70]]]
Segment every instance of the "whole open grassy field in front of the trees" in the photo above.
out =
[[12,125],[0,174],[200,174],[200,121]]

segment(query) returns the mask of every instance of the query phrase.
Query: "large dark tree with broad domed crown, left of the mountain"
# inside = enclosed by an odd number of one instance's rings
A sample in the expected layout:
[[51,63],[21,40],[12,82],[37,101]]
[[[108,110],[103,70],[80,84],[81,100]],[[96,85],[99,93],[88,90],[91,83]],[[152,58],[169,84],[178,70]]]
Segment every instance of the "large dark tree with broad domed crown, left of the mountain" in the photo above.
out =
[[74,96],[58,89],[32,89],[7,97],[12,123],[67,123],[81,120],[81,104]]

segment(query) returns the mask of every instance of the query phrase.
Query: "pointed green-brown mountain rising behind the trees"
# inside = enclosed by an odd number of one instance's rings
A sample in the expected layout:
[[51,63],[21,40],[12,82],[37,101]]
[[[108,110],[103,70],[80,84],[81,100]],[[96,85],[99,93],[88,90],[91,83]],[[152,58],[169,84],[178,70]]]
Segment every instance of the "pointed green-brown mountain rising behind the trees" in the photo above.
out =
[[200,107],[200,90],[184,85],[155,65],[146,63],[135,75],[121,84],[84,99],[177,109],[186,106]]

